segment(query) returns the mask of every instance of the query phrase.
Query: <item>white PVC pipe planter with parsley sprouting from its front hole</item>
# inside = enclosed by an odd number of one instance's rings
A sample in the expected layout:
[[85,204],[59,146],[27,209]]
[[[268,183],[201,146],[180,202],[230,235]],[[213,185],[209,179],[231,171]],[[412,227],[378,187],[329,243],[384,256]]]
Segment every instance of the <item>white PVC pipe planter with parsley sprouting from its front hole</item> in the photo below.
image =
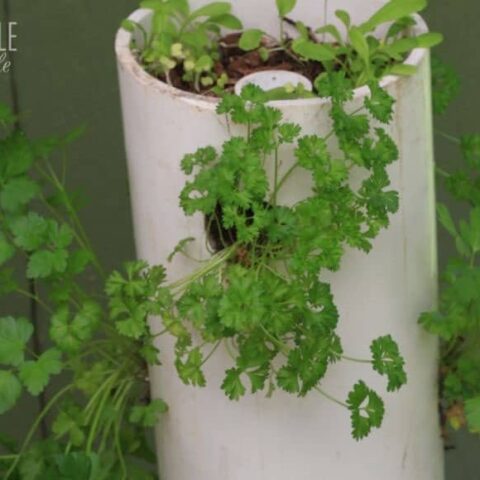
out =
[[[201,1],[192,2],[199,6]],[[234,13],[246,28],[278,32],[275,2],[233,0]],[[381,0],[329,2],[333,11],[347,10],[354,23],[366,20]],[[149,11],[132,19],[149,26]],[[323,2],[299,0],[291,15],[309,25],[325,21]],[[418,17],[417,29],[427,27]],[[180,160],[199,147],[220,147],[230,132],[215,113],[216,100],[172,88],[149,76],[129,45],[131,34],[119,31],[116,54],[123,106],[125,142],[138,257],[169,266],[171,281],[197,264],[178,255],[166,258],[179,240],[196,237],[194,257],[208,258],[204,219],[186,217],[179,206],[185,183]],[[186,387],[173,366],[173,341],[158,345],[163,365],[151,369],[153,397],[164,398],[169,412],[156,429],[162,480],[441,480],[443,459],[438,421],[437,342],[417,324],[419,314],[436,302],[436,232],[430,95],[426,50],[415,50],[407,63],[417,67],[408,78],[387,77],[383,85],[396,99],[390,133],[400,160],[390,168],[401,207],[382,231],[373,251],[348,251],[340,272],[332,274],[340,310],[339,335],[345,352],[369,358],[371,340],[391,334],[406,360],[408,384],[383,395],[386,416],[381,429],[365,440],[350,436],[348,411],[315,393],[296,398],[276,391],[271,399],[250,395],[230,401],[220,390],[231,359],[217,353],[206,364],[207,387]],[[351,108],[368,95],[359,88]],[[286,120],[300,124],[303,134],[330,130],[329,102],[322,99],[275,102]],[[284,152],[283,168],[293,162]],[[355,176],[355,174],[354,174]],[[356,181],[355,178],[352,179]],[[308,191],[307,177],[292,176],[279,198],[285,204]],[[161,319],[152,319],[154,331]],[[358,379],[385,391],[385,379],[369,365],[341,362],[330,366],[322,388],[340,399]]]

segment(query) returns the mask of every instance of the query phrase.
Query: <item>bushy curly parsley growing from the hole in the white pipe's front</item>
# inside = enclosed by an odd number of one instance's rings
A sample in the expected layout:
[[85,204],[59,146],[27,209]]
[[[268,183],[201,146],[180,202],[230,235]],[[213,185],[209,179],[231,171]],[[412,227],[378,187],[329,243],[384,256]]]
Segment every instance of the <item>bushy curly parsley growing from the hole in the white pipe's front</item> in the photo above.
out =
[[[393,100],[378,85],[371,84],[371,95],[355,113],[345,107],[353,83],[344,72],[323,75],[317,86],[333,102],[333,130],[326,137],[302,135],[300,126],[284,122],[267,104],[265,92],[250,85],[241,96],[224,96],[217,109],[243,126],[245,136],[232,137],[220,151],[201,148],[181,163],[191,176],[180,194],[183,210],[209,219],[221,242],[211,261],[171,286],[170,295],[161,294],[160,314],[177,337],[176,367],[185,384],[206,384],[202,366],[223,344],[233,361],[222,384],[230,399],[247,388],[298,396],[317,390],[331,398],[321,381],[330,364],[348,357],[336,333],[330,285],[319,278],[340,268],[347,246],[368,252],[388,226],[398,195],[388,189],[387,166],[398,151],[384,128],[371,125],[370,116],[378,125],[392,116]],[[341,155],[329,148],[332,135]],[[279,161],[285,146],[295,150],[288,168]],[[349,183],[352,168],[366,173],[358,189]],[[311,175],[312,193],[282,205],[279,194],[297,170]],[[184,247],[182,242],[177,250]],[[371,351],[364,361],[388,378],[389,391],[405,384],[404,361],[390,336],[374,340]],[[356,439],[380,426],[383,401],[363,381],[345,402],[337,401],[350,410]]]

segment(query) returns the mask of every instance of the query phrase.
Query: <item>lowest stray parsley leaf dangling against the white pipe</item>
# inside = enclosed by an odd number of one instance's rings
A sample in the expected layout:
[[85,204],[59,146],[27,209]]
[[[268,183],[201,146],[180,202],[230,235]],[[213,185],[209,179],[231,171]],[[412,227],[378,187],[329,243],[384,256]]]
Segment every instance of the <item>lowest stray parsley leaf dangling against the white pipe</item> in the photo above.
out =
[[372,428],[380,428],[385,414],[383,400],[363,381],[354,385],[348,394],[347,405],[352,421],[352,436],[355,440],[367,437]]

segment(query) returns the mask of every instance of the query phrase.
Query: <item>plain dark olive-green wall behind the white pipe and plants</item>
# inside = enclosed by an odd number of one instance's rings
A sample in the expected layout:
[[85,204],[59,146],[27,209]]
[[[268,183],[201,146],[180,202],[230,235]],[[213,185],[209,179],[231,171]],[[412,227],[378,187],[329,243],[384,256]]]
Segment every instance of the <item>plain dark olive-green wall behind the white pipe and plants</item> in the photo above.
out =
[[[71,189],[90,199],[82,219],[107,270],[134,257],[113,38],[137,5],[137,0],[0,0],[0,20],[18,22],[18,52],[10,73],[0,73],[0,102],[21,112],[31,137],[87,127],[71,148],[68,178]],[[462,80],[459,97],[437,127],[452,135],[478,132],[480,2],[431,0],[425,17],[432,30],[445,35],[436,53]],[[446,169],[459,161],[448,141],[436,136],[435,147]],[[439,197],[444,200],[441,188]],[[439,243],[443,265],[453,246],[441,231]],[[0,304],[0,315],[7,313],[28,315],[29,305]],[[25,401],[0,418],[0,432],[21,437],[36,409],[35,400]],[[449,443],[454,448],[446,454],[447,480],[479,480],[480,440],[460,433]]]

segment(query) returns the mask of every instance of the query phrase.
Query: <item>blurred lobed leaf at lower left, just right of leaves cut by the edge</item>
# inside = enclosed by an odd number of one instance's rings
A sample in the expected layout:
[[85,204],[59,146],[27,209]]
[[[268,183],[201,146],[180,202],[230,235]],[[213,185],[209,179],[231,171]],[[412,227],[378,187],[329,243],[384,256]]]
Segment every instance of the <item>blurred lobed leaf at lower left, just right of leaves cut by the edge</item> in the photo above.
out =
[[20,366],[19,377],[32,395],[39,395],[50,381],[63,368],[62,354],[56,348],[44,352],[36,361],[25,362]]

